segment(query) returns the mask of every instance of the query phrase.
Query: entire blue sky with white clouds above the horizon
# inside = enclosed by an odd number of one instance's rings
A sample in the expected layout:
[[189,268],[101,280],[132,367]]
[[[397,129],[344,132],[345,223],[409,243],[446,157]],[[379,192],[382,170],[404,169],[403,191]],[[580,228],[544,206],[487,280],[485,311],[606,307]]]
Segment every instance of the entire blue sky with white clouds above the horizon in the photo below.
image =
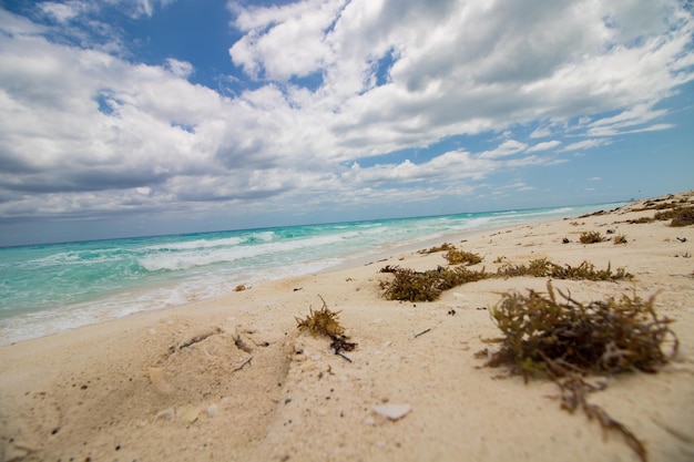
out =
[[691,0],[0,0],[0,245],[694,188]]

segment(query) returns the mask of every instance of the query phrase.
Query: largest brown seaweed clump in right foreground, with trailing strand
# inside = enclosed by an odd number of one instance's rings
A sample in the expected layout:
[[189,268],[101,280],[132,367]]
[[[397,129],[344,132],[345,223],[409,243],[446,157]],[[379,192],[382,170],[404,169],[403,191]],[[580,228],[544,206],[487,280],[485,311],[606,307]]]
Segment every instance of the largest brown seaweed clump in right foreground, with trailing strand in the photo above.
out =
[[[643,443],[602,408],[588,402],[598,388],[585,374],[612,374],[640,370],[656,372],[677,352],[678,341],[667,318],[659,318],[654,297],[642,300],[623,296],[581,304],[570,295],[530,290],[528,295],[507,292],[490,310],[503,337],[494,339],[501,348],[486,366],[508,366],[525,381],[530,376],[549,377],[561,389],[562,408],[583,409],[603,429],[621,433],[627,444],[645,461]],[[669,342],[671,351],[663,351]],[[487,356],[487,352],[483,352]]]

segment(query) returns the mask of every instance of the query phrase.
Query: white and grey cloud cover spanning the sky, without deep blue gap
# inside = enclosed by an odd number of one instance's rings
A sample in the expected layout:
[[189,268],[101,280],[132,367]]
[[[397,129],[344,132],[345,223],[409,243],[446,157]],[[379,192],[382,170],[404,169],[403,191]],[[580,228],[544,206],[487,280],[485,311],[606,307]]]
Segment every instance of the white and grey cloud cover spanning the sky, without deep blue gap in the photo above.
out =
[[[171,2],[106,3],[140,18]],[[234,96],[192,83],[198,70],[175,57],[125,59],[86,25],[105,24],[94,2],[39,8],[58,25],[0,9],[2,217],[423,201],[567,162],[560,146],[667,129],[659,103],[694,79],[694,21],[675,0],[232,1],[228,59],[247,83]],[[61,24],[76,39],[58,40]],[[491,150],[369,161],[504,131]]]

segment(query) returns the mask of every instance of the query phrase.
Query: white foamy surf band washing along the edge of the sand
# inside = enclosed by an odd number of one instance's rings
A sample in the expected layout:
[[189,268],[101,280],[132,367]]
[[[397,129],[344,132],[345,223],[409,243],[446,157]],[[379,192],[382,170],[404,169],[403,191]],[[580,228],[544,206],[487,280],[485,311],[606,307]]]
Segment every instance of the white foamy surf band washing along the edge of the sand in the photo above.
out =
[[[504,218],[499,218],[499,216],[496,216],[494,213],[491,212],[483,213],[483,217],[481,219],[489,220],[489,223],[481,225],[470,224],[472,227],[469,229],[451,230],[449,229],[449,224],[443,224],[441,232],[435,232],[435,227],[432,227],[431,224],[427,224],[425,227],[428,228],[428,233],[430,233],[429,235],[422,234],[415,237],[398,236],[401,238],[400,240],[388,243],[388,239],[381,239],[385,242],[375,242],[372,243],[372,246],[367,244],[359,246],[356,243],[359,243],[363,237],[357,236],[351,237],[353,243],[348,244],[349,247],[353,247],[350,253],[345,254],[345,251],[338,251],[336,255],[325,254],[320,259],[296,261],[297,264],[289,265],[288,269],[293,276],[327,274],[334,270],[348,269],[353,266],[366,265],[395,253],[409,251],[422,246],[436,245],[441,239],[462,239],[466,236],[474,236],[476,234],[490,229],[519,226],[520,224],[543,223],[552,220],[559,216],[570,216],[570,213],[571,215],[579,215],[585,211],[592,212],[599,207],[614,207],[620,204],[623,203],[592,204],[558,208],[532,208],[521,211],[520,213],[513,211],[503,213],[502,215]],[[527,214],[530,214],[530,216]],[[466,214],[460,215],[462,216]],[[433,218],[451,218],[455,223],[456,219],[458,219],[456,218],[457,216],[458,215],[450,215]],[[423,219],[426,223],[429,218],[421,217],[416,219]],[[479,219],[479,217],[471,219],[474,222]],[[499,219],[504,223],[497,223]],[[389,220],[385,220],[384,223],[388,222]],[[465,220],[459,225],[468,226]],[[418,224],[415,223],[414,226],[417,227]],[[251,232],[255,233],[255,230]],[[204,236],[201,235],[200,238],[204,240]],[[157,242],[151,243],[153,248],[169,245],[171,244],[162,244]],[[174,246],[176,246],[176,244],[174,244]],[[76,249],[70,251],[76,251]],[[94,249],[94,251],[100,250]],[[233,260],[231,260],[229,264],[233,265]],[[279,264],[277,264],[277,266],[267,266],[264,269],[261,269],[259,273],[257,273],[252,266],[247,267],[248,274],[246,276],[248,277],[244,276],[244,269],[242,269],[242,273],[237,274],[233,270],[227,273],[224,270],[216,273],[220,268],[210,268],[213,273],[207,275],[205,278],[201,278],[201,271],[204,273],[205,267],[202,266],[200,270],[196,268],[192,269],[194,273],[188,274],[187,276],[183,275],[183,277],[181,277],[181,275],[178,275],[180,271],[173,271],[169,276],[163,276],[164,279],[153,279],[150,285],[131,288],[113,288],[111,295],[102,297],[95,296],[96,298],[89,300],[69,301],[67,305],[62,305],[59,299],[53,299],[52,307],[41,308],[38,311],[32,309],[31,311],[33,311],[33,314],[18,314],[14,317],[8,317],[2,319],[0,322],[0,346],[71,331],[80,327],[92,326],[94,324],[132,316],[136,312],[156,311],[161,309],[182,307],[194,301],[212,300],[233,294],[235,291],[235,287],[239,285],[251,287],[268,280],[277,280],[287,277],[286,273],[282,273],[283,269]],[[185,274],[185,271],[190,270],[191,268],[184,269],[183,271]],[[213,279],[211,279],[211,277]],[[41,294],[43,294],[43,290],[41,290]],[[8,302],[8,300],[6,300],[6,302]]]

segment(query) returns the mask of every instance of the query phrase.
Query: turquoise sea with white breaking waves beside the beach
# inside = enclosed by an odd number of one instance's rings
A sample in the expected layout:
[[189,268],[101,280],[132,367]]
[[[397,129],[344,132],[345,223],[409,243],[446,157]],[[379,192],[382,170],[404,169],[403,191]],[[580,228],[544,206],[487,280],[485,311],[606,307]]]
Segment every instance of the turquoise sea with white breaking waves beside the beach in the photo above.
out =
[[0,345],[320,271],[399,244],[619,205],[0,248]]

